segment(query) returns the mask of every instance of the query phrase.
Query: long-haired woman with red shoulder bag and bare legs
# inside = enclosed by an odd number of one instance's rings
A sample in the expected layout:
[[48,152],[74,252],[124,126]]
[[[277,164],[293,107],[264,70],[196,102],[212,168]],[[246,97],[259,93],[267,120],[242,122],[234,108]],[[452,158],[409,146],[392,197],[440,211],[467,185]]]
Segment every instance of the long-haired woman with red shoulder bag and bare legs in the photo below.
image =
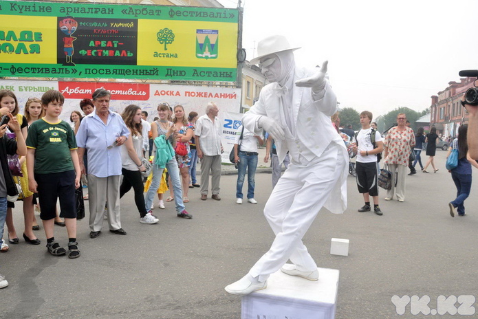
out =
[[176,153],[177,166],[180,168],[182,177],[183,201],[184,203],[187,203],[189,201],[189,166],[191,165],[191,148],[189,147],[189,141],[191,140],[191,137],[193,137],[194,126],[191,123],[188,123],[184,116],[184,107],[180,104],[177,104],[174,107],[173,124],[177,131],[176,144],[184,144],[188,152],[186,155],[179,155]]

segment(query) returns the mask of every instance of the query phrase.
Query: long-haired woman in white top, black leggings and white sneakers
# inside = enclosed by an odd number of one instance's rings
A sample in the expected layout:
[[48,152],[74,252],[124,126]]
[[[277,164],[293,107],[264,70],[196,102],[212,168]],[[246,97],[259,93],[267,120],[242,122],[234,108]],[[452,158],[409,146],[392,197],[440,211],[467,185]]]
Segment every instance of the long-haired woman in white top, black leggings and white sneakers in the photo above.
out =
[[141,109],[138,105],[128,105],[121,116],[129,129],[131,138],[124,142],[124,146],[120,146],[121,173],[124,177],[120,186],[120,198],[133,187],[134,201],[138,212],[140,212],[140,223],[157,223],[160,220],[153,217],[153,215],[146,210],[146,206],[144,206],[141,172],[144,172],[146,168],[142,164],[143,137],[141,136]]

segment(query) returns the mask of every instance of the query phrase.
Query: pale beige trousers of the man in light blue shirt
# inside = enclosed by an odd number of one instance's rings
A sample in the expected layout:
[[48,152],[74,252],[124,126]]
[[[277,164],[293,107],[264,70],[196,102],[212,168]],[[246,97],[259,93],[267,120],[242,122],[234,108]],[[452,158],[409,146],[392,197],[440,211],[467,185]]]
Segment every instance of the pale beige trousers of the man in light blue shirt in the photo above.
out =
[[120,220],[120,177],[96,177],[88,174],[89,230],[98,232],[103,225],[103,212],[108,202],[108,223],[110,230],[121,228]]

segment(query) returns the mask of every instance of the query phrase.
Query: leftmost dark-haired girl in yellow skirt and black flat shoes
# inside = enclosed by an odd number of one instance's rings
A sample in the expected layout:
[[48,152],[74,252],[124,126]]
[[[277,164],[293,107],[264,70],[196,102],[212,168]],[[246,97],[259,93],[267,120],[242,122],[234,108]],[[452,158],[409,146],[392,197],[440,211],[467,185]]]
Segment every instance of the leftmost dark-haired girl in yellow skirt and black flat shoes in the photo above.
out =
[[[6,113],[12,113],[17,118],[17,121],[21,127],[21,133],[23,138],[26,140],[28,135],[28,121],[24,115],[19,114],[19,103],[15,94],[10,90],[1,90],[0,91],[0,113],[5,115]],[[25,229],[23,231],[23,239],[27,243],[32,245],[39,245],[40,240],[36,238],[33,232],[33,218],[34,218],[34,204],[33,204],[33,192],[28,188],[28,172],[27,172],[27,163],[25,162],[26,157],[19,157],[19,162],[21,166],[22,177],[15,176],[14,180],[19,182],[21,186],[22,194],[19,196],[19,199],[23,200],[23,217],[25,221]],[[13,215],[12,208],[15,207],[14,203],[8,201],[7,203],[7,218],[6,225],[8,228],[8,242],[12,244],[19,243],[19,238],[17,236],[17,231],[13,224]]]

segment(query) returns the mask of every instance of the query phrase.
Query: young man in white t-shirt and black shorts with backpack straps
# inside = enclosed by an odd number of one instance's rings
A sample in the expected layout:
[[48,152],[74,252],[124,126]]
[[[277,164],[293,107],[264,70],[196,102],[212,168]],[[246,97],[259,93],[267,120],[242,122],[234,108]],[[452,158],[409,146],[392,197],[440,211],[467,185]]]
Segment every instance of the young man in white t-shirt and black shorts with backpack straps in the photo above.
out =
[[[383,151],[383,139],[382,135],[370,126],[371,120],[371,112],[363,111],[360,113],[360,125],[362,125],[362,129],[358,131],[354,145],[354,152],[357,153],[357,187],[358,192],[363,195],[365,201],[365,205],[358,211],[369,212],[371,210],[371,196],[373,198],[373,212],[381,216],[382,211],[380,207],[378,207],[377,154]],[[373,140],[372,135],[375,135]]]

